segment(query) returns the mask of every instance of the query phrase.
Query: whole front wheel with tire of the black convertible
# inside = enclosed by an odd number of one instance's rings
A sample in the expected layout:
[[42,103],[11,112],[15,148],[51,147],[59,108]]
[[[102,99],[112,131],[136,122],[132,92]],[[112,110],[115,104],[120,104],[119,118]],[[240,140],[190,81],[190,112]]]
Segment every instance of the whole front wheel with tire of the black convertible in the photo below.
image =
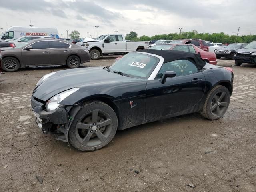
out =
[[68,140],[80,151],[98,150],[114,138],[117,126],[116,113],[108,104],[86,102],[74,117]]

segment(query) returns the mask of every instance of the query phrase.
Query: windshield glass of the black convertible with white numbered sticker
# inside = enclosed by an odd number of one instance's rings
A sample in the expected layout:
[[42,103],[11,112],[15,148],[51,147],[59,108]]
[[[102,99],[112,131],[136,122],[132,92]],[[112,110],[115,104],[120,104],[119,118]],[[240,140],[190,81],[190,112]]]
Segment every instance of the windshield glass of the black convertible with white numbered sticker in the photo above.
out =
[[159,58],[142,53],[131,52],[116,61],[111,72],[122,72],[130,77],[147,79],[155,69]]

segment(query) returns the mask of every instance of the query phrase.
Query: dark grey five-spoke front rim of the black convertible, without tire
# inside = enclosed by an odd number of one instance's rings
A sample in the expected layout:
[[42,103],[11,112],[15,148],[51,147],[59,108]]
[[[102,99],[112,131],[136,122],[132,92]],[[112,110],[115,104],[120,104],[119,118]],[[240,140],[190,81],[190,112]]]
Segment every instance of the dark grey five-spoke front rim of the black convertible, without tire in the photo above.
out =
[[75,134],[82,145],[96,147],[108,139],[112,129],[110,115],[102,110],[93,110],[80,118]]

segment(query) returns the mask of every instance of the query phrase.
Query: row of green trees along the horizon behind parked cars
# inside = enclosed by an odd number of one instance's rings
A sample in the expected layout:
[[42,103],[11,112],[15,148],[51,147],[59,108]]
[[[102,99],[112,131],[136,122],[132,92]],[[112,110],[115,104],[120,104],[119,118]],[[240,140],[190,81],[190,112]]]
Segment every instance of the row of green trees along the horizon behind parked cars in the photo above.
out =
[[196,30],[192,30],[189,32],[181,32],[181,33],[170,33],[170,34],[160,34],[152,37],[142,35],[138,37],[138,34],[135,31],[131,31],[129,34],[125,36],[126,40],[132,41],[150,41],[157,39],[166,39],[166,40],[176,40],[176,39],[202,39],[205,41],[219,42],[219,43],[234,43],[235,41],[238,43],[249,43],[256,40],[256,35],[243,35],[238,36],[236,39],[236,35],[228,35],[221,33],[198,33]]

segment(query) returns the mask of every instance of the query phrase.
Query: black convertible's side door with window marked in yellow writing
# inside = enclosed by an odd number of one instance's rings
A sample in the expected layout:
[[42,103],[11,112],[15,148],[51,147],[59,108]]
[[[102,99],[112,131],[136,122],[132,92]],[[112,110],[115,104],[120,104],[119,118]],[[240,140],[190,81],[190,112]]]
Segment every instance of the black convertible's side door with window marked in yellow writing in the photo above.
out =
[[[176,76],[167,78],[162,84],[160,79],[165,71],[174,71]],[[146,119],[158,119],[186,110],[193,112],[194,107],[204,96],[206,82],[192,60],[176,60],[163,64],[155,80],[147,83]]]

